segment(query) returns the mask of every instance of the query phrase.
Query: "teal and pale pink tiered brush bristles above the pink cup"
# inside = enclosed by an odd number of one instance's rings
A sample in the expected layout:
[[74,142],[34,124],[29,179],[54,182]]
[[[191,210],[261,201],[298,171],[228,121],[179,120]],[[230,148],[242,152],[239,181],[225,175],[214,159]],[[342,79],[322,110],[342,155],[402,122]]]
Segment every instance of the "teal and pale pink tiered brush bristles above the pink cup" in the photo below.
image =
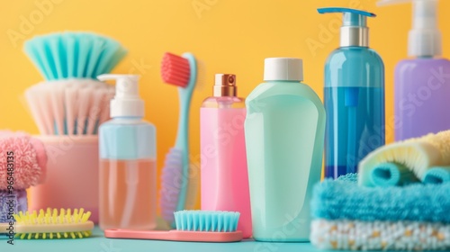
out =
[[127,51],[92,32],[58,32],[25,41],[25,54],[46,81],[25,98],[41,135],[96,135],[109,118],[112,86],[96,76],[109,73]]

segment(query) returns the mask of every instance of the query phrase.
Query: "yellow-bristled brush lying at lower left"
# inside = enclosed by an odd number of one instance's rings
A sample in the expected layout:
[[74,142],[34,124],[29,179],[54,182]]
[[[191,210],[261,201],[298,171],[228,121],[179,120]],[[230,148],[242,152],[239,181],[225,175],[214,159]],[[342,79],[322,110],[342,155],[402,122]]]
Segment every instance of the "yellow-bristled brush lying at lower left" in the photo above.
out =
[[[14,214],[14,233],[16,238],[86,238],[91,236],[94,222],[89,220],[91,212],[83,208],[47,209]],[[8,223],[0,224],[0,229],[8,229]]]

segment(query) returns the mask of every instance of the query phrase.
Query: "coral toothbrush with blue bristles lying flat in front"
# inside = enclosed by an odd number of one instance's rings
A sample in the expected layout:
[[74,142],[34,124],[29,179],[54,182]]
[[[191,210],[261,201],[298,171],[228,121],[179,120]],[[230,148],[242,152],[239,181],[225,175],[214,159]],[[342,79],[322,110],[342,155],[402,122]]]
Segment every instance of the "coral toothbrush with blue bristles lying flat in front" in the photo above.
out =
[[106,229],[106,238],[137,238],[196,242],[234,242],[242,239],[237,211],[176,211],[176,230]]

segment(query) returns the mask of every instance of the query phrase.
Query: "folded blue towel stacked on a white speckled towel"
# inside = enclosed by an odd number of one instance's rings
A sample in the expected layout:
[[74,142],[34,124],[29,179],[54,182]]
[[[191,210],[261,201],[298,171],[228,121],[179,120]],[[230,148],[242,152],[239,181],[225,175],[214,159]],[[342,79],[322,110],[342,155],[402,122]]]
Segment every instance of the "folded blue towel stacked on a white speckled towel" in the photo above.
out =
[[311,243],[323,249],[450,249],[450,183],[365,187],[357,175],[316,185]]

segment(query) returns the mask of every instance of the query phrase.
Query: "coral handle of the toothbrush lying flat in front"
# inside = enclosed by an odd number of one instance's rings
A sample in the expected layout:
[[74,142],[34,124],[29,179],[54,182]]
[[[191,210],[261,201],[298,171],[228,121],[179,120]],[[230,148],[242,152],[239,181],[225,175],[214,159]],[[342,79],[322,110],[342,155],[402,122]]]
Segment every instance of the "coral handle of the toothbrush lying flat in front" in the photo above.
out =
[[202,231],[147,231],[131,229],[106,229],[106,238],[136,238],[195,242],[234,242],[242,240],[242,232],[202,232]]

